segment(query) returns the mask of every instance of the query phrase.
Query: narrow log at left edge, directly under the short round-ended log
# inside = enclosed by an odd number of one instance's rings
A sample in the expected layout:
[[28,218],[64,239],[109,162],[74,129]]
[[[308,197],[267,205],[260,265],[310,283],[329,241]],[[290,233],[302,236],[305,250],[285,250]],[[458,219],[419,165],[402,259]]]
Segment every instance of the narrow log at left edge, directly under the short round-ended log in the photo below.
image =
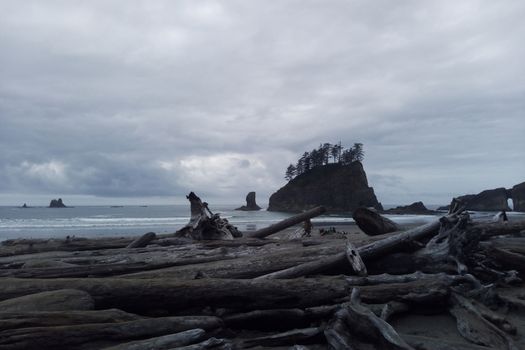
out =
[[143,317],[118,309],[86,311],[0,312],[0,330],[28,327],[70,326],[84,323],[118,323]]

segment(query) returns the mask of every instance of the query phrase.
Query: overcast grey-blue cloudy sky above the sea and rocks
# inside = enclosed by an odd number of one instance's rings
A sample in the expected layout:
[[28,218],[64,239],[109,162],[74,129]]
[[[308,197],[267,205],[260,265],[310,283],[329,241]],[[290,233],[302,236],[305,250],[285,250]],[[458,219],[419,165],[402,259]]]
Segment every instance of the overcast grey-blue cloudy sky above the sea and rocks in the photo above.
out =
[[384,204],[525,181],[523,1],[0,0],[0,205],[266,206],[319,143]]

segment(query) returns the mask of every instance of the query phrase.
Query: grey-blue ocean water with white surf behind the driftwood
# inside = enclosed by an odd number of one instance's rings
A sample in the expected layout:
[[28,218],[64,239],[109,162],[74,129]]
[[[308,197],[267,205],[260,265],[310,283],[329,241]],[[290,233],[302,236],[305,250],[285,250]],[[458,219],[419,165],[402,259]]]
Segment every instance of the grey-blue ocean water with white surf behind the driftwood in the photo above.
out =
[[[211,206],[214,213],[241,231],[256,230],[292,214],[260,211],[237,211],[234,205]],[[483,214],[480,215],[493,215]],[[403,224],[427,223],[436,215],[386,215]],[[190,217],[189,205],[151,206],[78,206],[68,208],[0,206],[0,241],[13,238],[103,237],[141,235],[146,232],[173,233]],[[315,224],[351,224],[348,215],[324,215]]]

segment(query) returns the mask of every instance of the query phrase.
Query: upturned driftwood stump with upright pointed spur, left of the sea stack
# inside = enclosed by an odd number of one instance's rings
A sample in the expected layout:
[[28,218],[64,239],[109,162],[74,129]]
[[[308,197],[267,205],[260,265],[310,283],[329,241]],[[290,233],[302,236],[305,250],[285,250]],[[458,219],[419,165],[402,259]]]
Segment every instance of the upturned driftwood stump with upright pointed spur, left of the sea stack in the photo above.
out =
[[208,203],[193,192],[186,196],[190,201],[190,222],[175,233],[176,237],[191,237],[193,239],[233,239],[242,237],[242,233],[231,225],[228,220],[221,219],[208,208]]

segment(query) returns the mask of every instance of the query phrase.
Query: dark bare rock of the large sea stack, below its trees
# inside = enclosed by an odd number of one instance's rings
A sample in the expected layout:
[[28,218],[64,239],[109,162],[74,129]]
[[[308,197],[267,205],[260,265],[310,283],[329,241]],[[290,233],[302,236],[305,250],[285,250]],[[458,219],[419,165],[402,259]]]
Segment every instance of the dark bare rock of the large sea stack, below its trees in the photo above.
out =
[[363,165],[353,162],[319,166],[297,176],[272,194],[268,210],[299,212],[319,205],[330,212],[362,206],[383,209],[368,186]]

